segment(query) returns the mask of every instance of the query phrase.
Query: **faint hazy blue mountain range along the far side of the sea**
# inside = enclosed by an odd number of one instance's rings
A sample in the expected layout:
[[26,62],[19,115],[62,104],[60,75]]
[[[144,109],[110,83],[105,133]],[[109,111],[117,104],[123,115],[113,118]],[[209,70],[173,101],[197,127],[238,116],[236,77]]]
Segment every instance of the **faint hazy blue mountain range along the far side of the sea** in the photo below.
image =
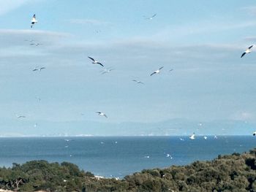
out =
[[[255,131],[255,123],[243,120],[195,121],[171,119],[155,123],[105,123],[87,120],[50,122],[18,120],[1,122],[0,136],[177,136],[190,135],[248,135]],[[18,131],[17,131],[18,130]]]

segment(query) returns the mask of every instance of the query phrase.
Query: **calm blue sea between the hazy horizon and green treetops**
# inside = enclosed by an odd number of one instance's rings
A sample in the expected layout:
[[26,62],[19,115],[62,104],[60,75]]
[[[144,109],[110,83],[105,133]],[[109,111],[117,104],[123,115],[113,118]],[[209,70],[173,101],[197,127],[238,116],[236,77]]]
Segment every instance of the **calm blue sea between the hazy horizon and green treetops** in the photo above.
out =
[[[142,169],[211,160],[219,154],[242,153],[256,137],[34,137],[0,138],[0,166],[31,160],[69,161],[105,177],[124,177]],[[64,139],[72,139],[65,141]],[[170,154],[172,158],[167,157]]]

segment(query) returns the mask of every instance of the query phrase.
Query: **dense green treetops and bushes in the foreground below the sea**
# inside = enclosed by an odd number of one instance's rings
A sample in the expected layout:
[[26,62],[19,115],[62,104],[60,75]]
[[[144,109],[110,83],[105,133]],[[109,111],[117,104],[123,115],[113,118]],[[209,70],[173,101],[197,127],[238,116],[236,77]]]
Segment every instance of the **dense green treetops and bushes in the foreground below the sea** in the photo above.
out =
[[256,149],[188,166],[148,169],[123,180],[99,179],[64,162],[30,161],[0,169],[0,187],[15,191],[256,191]]

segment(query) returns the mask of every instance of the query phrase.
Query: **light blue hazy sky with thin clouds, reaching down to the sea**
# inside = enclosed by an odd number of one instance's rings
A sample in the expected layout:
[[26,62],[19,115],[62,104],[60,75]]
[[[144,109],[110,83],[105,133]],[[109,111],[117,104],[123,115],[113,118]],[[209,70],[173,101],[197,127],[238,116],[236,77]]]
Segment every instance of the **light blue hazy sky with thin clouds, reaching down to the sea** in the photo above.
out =
[[255,1],[0,4],[0,136],[255,131]]

